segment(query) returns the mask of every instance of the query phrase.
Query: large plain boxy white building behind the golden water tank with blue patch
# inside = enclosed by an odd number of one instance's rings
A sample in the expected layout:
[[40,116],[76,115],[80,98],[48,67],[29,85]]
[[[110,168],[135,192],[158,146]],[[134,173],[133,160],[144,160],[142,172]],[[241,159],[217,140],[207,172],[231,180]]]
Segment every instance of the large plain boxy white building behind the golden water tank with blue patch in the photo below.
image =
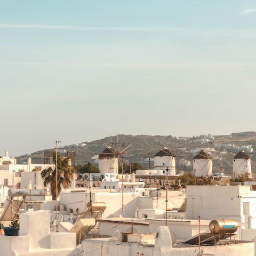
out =
[[250,186],[187,186],[187,218],[231,219],[256,228],[256,191]]

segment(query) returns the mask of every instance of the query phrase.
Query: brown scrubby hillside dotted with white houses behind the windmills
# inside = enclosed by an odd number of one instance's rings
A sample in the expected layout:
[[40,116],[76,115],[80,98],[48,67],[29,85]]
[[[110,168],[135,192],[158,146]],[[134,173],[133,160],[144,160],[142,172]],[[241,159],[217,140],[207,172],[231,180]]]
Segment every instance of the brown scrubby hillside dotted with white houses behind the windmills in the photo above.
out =
[[[210,135],[210,134],[209,134]],[[130,162],[140,162],[145,167],[148,167],[148,163],[145,158],[153,158],[159,149],[163,147],[169,148],[177,156],[177,170],[178,171],[192,171],[192,160],[195,153],[190,150],[197,148],[212,148],[213,156],[213,172],[225,172],[230,174],[232,171],[232,161],[235,156],[237,146],[252,145],[252,148],[256,149],[256,132],[244,132],[244,133],[232,133],[230,135],[217,135],[214,138],[207,139],[209,135],[199,135],[196,137],[172,137],[161,136],[161,135],[118,135],[119,147],[127,147],[126,159]],[[112,137],[114,147],[117,148],[117,136]],[[102,150],[106,148],[104,142],[111,146],[110,137],[106,137],[100,140],[91,142],[81,142],[77,145],[69,145],[61,147],[61,149],[75,151],[76,153],[76,165],[84,165],[87,162],[93,162],[91,157],[99,155]],[[231,149],[225,149],[232,145]],[[234,145],[234,146],[233,146]],[[253,151],[254,152],[254,151]],[[255,172],[256,167],[256,155],[253,152],[247,153],[249,156],[252,155],[252,172]],[[44,162],[44,150],[37,151],[31,154],[33,163]],[[180,166],[180,159],[186,159],[191,162],[191,166]],[[17,162],[22,163],[27,161],[27,156],[17,157]]]

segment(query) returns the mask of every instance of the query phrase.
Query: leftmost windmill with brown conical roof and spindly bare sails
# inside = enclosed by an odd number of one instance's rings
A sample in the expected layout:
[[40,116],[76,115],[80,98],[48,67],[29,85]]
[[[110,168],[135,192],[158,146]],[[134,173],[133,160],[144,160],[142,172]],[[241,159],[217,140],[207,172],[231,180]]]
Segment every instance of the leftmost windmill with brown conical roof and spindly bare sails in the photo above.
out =
[[115,173],[118,174],[118,157],[116,151],[107,147],[99,155],[99,173]]

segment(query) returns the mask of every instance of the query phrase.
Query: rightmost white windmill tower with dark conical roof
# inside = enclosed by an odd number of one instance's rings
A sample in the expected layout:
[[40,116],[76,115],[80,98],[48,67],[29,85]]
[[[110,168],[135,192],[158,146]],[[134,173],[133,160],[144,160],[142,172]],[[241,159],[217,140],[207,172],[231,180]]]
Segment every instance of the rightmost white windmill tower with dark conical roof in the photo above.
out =
[[252,177],[251,159],[244,151],[239,151],[233,158],[233,176],[246,173]]

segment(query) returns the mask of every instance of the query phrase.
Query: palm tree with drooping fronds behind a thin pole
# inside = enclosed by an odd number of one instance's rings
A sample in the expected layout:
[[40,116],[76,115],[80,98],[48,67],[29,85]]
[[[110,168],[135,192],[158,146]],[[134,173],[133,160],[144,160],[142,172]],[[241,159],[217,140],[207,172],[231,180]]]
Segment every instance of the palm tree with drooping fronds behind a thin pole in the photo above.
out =
[[[56,153],[52,153],[53,162],[56,163]],[[44,180],[44,187],[50,184],[52,199],[57,200],[61,187],[67,189],[72,185],[72,180],[76,174],[74,167],[69,165],[69,158],[63,158],[60,154],[57,156],[58,164],[58,194],[56,193],[56,168],[49,167],[41,172],[41,177]]]

